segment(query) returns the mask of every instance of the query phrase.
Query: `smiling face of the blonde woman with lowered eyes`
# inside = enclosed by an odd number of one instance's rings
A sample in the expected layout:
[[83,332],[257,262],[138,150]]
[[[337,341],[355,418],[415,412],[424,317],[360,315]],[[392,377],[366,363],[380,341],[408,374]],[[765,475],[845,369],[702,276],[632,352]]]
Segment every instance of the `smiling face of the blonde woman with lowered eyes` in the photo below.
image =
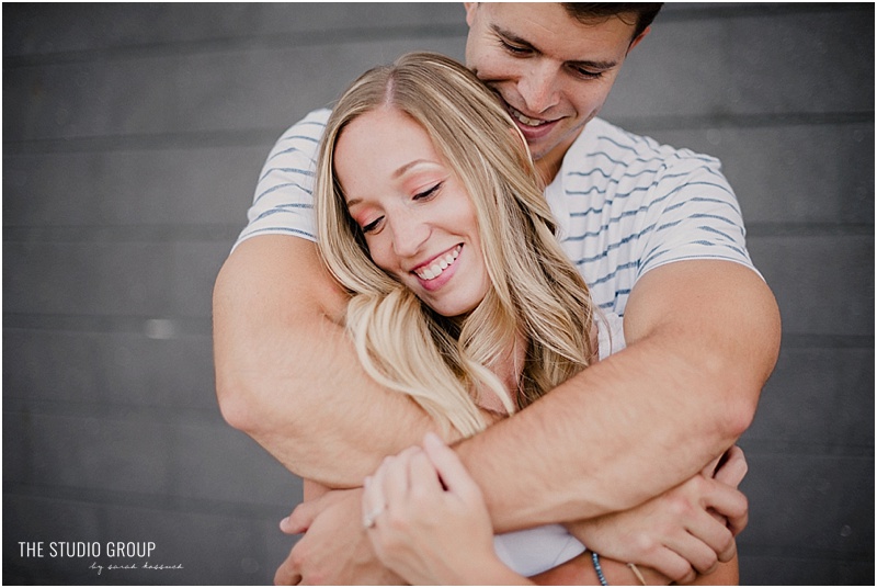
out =
[[373,261],[443,316],[471,312],[489,286],[468,193],[408,115],[380,109],[341,133],[334,167]]

